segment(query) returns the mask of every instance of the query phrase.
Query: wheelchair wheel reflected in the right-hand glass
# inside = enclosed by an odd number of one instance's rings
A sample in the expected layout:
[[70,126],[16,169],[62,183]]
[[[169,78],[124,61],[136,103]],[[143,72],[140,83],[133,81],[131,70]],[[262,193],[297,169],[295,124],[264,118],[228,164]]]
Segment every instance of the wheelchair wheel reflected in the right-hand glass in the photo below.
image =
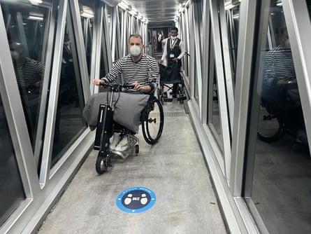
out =
[[263,142],[276,142],[284,135],[282,122],[277,118],[277,113],[266,104],[261,104],[257,135]]

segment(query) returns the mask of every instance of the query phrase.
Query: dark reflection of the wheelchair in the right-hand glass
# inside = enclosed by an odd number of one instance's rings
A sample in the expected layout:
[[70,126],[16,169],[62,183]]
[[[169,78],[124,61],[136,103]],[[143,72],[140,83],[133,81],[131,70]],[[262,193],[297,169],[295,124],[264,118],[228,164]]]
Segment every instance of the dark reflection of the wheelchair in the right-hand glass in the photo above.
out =
[[301,104],[293,102],[289,90],[297,90],[294,85],[284,85],[280,90],[263,89],[259,108],[257,135],[263,142],[272,143],[285,134],[295,138],[294,150],[301,151],[308,146]]

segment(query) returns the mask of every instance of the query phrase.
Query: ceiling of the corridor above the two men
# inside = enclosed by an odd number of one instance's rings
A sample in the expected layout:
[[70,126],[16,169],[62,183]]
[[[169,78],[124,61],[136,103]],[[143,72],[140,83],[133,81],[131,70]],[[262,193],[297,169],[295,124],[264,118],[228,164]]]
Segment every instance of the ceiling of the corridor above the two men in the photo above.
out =
[[178,9],[187,0],[122,0],[148,22],[173,22]]

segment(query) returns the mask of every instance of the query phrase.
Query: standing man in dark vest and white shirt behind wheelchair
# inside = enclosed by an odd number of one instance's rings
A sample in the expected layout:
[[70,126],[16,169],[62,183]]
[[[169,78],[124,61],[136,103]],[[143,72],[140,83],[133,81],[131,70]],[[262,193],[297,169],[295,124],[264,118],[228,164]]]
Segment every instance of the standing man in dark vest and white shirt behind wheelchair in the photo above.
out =
[[[167,61],[167,67],[173,67],[177,64],[178,76],[180,76],[180,68],[182,67],[182,57],[185,56],[185,44],[178,38],[178,28],[171,28],[171,36],[166,39],[164,44],[164,51],[161,57],[161,64]],[[165,65],[165,64],[164,64]],[[173,84],[173,91],[171,95],[177,97],[178,83]]]

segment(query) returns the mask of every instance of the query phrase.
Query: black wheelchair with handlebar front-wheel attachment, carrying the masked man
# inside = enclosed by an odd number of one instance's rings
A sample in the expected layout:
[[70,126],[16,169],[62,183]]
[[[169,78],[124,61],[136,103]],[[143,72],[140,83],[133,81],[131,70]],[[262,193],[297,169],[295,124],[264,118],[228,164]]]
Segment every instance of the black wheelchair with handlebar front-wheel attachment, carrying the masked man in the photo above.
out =
[[[113,120],[113,95],[118,95],[118,93],[120,94],[120,92],[124,90],[129,90],[133,88],[133,85],[121,85],[119,83],[103,83],[102,85],[104,88],[108,89],[111,98],[108,104],[100,104],[99,106],[94,141],[94,149],[99,151],[96,159],[96,172],[98,174],[103,174],[103,172],[108,170],[108,167],[112,167],[112,154],[117,154],[125,159],[131,153],[137,155],[139,152],[138,138],[134,136],[135,132]],[[156,144],[161,137],[164,127],[164,112],[161,103],[157,97],[154,96],[154,92],[150,94],[147,105],[140,113],[140,124],[142,126],[145,142],[147,142],[147,144]],[[110,138],[115,132],[128,137],[128,151],[126,151],[125,154],[124,152],[110,150]]]

